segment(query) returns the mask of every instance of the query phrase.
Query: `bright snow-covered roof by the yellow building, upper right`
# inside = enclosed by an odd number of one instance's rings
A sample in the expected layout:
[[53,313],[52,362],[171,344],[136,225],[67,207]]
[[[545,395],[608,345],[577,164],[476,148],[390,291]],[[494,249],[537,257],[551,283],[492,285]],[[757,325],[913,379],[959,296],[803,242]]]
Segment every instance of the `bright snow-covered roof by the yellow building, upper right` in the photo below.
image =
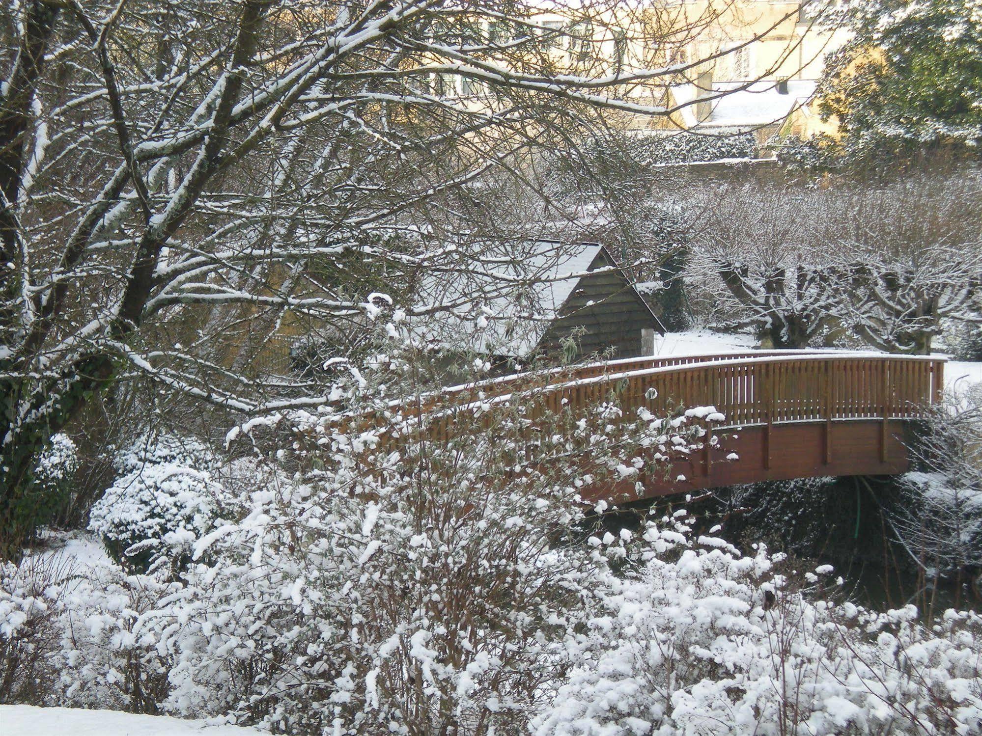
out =
[[788,94],[781,94],[775,81],[755,81],[746,89],[740,89],[745,83],[714,82],[714,93],[734,91],[714,101],[709,118],[699,123],[696,129],[745,130],[781,123],[815,94],[815,82],[810,79],[789,79]]

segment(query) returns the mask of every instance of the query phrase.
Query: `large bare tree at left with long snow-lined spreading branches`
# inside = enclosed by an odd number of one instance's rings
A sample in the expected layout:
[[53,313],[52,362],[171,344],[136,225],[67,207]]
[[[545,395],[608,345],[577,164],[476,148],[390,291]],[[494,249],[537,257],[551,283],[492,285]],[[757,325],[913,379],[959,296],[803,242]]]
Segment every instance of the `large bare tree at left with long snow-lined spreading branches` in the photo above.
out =
[[[486,270],[486,238],[515,225],[488,181],[536,191],[532,151],[605,110],[669,114],[631,90],[701,61],[612,61],[615,25],[643,11],[603,3],[557,6],[551,24],[536,3],[489,0],[13,8],[0,28],[7,551],[38,452],[90,394],[143,376],[239,412],[324,403],[245,369],[284,320],[343,323],[371,291]],[[658,46],[642,35],[632,48]]]

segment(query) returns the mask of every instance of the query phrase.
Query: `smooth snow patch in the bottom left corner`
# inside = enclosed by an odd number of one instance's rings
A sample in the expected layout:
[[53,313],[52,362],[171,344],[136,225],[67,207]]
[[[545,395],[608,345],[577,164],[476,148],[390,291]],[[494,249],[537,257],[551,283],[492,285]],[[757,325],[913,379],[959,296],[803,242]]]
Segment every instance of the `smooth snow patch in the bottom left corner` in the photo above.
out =
[[168,715],[136,715],[119,710],[0,706],[4,736],[255,736],[259,731],[208,725]]

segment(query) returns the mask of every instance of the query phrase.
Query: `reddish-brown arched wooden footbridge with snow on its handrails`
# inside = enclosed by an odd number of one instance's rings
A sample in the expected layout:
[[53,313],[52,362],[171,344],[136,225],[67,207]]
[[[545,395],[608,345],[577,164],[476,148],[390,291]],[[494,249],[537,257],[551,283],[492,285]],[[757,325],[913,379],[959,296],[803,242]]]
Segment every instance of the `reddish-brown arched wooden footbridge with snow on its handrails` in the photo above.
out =
[[[506,376],[448,389],[444,399],[462,406],[478,394],[486,401],[529,392],[538,396],[536,413],[565,407],[575,413],[616,394],[630,414],[640,407],[670,415],[713,406],[725,416],[713,428],[719,444],[704,443],[670,472],[643,478],[641,494],[633,482],[603,492],[623,500],[765,480],[904,472],[905,434],[940,400],[944,364],[930,356],[807,350],[646,357]],[[437,413],[427,431],[434,440],[454,434],[453,413]]]

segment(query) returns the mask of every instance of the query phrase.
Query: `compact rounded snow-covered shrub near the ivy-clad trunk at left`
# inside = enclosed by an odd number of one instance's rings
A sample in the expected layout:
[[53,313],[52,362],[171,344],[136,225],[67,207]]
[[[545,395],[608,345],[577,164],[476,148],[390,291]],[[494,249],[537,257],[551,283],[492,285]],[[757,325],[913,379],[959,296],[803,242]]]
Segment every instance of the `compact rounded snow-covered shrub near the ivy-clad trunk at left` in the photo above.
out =
[[89,530],[125,566],[145,571],[158,559],[181,564],[212,529],[226,494],[209,472],[214,459],[197,441],[144,438],[119,452],[121,476],[89,512]]

